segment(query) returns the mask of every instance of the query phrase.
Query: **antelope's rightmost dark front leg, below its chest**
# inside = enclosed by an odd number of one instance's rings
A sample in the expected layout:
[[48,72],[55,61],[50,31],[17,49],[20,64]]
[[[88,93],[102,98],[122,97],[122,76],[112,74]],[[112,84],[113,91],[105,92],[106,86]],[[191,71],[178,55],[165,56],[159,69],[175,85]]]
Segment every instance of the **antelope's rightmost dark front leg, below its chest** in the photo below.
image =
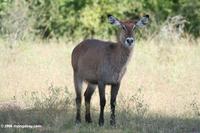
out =
[[115,105],[116,105],[116,98],[118,94],[118,90],[120,87],[120,83],[112,84],[111,87],[111,99],[110,99],[110,105],[111,105],[111,116],[110,116],[110,124],[112,126],[115,126]]

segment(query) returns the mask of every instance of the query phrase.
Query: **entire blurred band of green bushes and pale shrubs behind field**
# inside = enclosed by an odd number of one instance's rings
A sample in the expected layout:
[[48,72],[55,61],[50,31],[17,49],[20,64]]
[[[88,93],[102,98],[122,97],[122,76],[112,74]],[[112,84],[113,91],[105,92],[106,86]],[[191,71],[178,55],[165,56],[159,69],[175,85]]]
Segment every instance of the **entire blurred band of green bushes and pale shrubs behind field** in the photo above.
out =
[[1,0],[0,34],[17,40],[109,39],[116,29],[107,23],[107,14],[122,20],[149,14],[148,33],[139,37],[161,30],[200,36],[199,0]]

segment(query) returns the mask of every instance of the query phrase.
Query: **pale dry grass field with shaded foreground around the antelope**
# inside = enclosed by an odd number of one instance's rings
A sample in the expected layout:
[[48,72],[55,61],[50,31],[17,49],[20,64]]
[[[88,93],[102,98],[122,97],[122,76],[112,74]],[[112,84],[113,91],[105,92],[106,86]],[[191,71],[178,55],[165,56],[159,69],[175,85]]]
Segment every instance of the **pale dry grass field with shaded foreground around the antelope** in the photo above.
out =
[[[92,97],[93,124],[74,125],[74,87],[67,42],[0,42],[0,124],[3,132],[200,132],[200,42],[137,43],[117,99],[117,126],[98,126],[99,97]],[[67,44],[67,45],[66,45]],[[85,85],[84,85],[85,86]],[[85,88],[84,88],[85,89]],[[84,105],[84,104],[82,104]],[[3,128],[5,124],[41,128]]]

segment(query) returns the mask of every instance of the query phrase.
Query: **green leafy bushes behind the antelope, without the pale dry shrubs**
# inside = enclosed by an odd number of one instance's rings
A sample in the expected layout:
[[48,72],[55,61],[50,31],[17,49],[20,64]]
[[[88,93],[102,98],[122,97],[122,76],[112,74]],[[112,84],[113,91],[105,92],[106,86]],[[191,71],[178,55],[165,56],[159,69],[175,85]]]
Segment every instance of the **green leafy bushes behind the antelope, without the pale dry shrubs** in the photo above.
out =
[[[181,15],[188,23],[185,31],[200,36],[200,1],[198,0],[19,0],[28,6],[32,33],[42,38],[109,38],[117,28],[107,23],[107,14],[120,19],[135,19],[150,14],[153,33],[168,18]],[[0,20],[13,0],[0,0]],[[12,8],[10,9],[12,10]],[[10,11],[9,11],[10,12]],[[1,21],[0,21],[1,22]],[[0,24],[1,26],[1,24]],[[2,26],[1,26],[2,27]]]

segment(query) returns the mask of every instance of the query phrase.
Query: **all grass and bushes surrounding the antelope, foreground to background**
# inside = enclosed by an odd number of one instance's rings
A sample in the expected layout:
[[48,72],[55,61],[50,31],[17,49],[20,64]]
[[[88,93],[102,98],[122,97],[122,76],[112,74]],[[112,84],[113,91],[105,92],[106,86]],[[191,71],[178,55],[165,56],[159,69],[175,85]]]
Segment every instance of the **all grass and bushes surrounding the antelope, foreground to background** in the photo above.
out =
[[[115,41],[108,14],[151,20],[134,31],[116,127],[109,124],[109,87],[105,126],[98,126],[98,91],[94,122],[84,122],[82,103],[75,125],[71,52],[85,38]],[[0,132],[200,132],[199,36],[198,0],[0,0]]]

